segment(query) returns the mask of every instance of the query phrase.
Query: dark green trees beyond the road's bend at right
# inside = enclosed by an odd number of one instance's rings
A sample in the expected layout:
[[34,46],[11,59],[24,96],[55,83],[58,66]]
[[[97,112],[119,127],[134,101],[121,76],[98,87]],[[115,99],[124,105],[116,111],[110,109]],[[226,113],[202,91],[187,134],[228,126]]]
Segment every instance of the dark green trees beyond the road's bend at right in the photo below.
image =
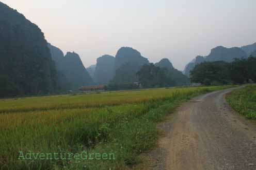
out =
[[233,62],[203,62],[190,71],[190,81],[203,85],[256,82],[256,58],[234,59]]

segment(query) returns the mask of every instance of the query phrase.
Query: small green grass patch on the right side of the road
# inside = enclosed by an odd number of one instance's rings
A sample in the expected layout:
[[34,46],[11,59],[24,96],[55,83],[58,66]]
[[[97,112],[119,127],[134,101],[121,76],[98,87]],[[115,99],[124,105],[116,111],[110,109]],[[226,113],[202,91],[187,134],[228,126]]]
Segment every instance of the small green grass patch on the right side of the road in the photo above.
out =
[[226,99],[234,110],[248,119],[256,119],[256,84],[236,89]]

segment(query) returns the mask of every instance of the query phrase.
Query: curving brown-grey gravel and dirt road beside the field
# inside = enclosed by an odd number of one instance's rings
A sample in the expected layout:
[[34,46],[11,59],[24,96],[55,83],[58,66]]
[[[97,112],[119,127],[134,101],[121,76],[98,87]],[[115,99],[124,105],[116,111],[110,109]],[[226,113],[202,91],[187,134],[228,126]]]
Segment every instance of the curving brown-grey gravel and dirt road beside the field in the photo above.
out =
[[256,169],[256,127],[229,107],[231,90],[194,98],[159,125],[153,169]]

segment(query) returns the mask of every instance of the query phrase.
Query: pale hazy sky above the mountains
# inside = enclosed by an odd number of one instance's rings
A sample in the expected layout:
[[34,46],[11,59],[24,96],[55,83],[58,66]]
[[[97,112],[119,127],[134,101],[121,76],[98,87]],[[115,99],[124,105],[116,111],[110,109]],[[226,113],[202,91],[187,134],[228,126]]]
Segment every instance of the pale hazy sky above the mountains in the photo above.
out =
[[86,67],[129,46],[183,70],[215,46],[256,42],[255,0],[0,1],[37,24],[52,45],[78,53]]

